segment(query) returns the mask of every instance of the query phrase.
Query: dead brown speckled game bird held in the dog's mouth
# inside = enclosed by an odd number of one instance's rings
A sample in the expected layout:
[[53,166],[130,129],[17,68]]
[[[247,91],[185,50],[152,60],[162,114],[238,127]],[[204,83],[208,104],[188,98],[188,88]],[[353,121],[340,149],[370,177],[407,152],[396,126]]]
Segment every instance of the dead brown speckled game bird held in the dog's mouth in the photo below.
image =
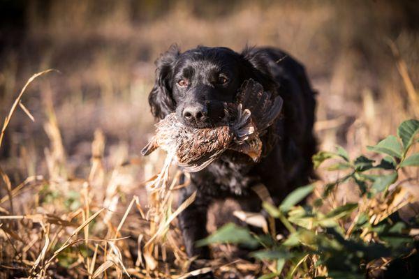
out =
[[[219,158],[227,149],[260,160],[262,142],[260,135],[281,113],[283,100],[263,91],[254,80],[245,81],[237,92],[235,103],[225,104],[223,126],[191,128],[168,114],[156,124],[156,135],[142,149],[144,156],[158,147],[168,153],[167,163],[175,161],[185,172],[198,172]],[[237,105],[238,104],[238,105]]]

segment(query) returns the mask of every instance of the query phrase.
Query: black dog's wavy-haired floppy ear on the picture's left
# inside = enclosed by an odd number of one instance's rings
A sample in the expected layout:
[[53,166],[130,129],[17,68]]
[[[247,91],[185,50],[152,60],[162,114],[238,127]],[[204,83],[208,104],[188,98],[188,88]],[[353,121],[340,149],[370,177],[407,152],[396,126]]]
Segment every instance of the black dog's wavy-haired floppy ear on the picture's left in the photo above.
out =
[[170,46],[169,50],[161,54],[156,60],[156,80],[152,91],[149,93],[149,104],[152,107],[154,117],[163,119],[167,114],[176,108],[175,100],[172,98],[172,67],[180,51],[177,45]]

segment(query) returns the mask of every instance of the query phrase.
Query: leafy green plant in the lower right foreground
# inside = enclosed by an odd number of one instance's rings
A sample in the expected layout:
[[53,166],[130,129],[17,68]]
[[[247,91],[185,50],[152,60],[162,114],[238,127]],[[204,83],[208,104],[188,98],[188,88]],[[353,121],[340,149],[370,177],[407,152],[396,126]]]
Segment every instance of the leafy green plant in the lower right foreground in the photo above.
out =
[[[419,153],[408,155],[418,142],[418,132],[419,121],[404,121],[398,128],[398,137],[390,135],[375,146],[368,146],[369,151],[384,155],[378,163],[365,155],[351,160],[340,146],[336,152],[317,153],[313,157],[315,167],[328,160],[331,164],[327,169],[343,175],[323,187],[297,188],[279,206],[263,203],[271,218],[288,230],[286,236],[278,237],[272,230],[271,234],[258,235],[230,223],[197,244],[258,246],[260,250],[251,256],[267,268],[260,279],[374,276],[392,260],[416,253],[411,228],[418,222],[402,220],[397,211],[412,200],[402,183],[413,180],[404,168],[419,166]],[[339,206],[331,203],[335,205],[329,205],[328,211],[326,203],[343,183],[358,186],[360,198]],[[297,205],[318,188],[323,193],[317,199]]]

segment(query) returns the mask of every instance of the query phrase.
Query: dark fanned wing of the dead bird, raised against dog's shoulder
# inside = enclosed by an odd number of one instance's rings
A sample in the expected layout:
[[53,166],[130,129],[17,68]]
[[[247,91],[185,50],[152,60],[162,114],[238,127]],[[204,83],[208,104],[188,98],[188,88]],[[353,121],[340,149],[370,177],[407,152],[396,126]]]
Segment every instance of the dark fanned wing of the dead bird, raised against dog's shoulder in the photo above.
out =
[[258,131],[269,127],[281,113],[284,100],[281,96],[272,98],[272,94],[263,91],[263,86],[250,79],[243,82],[237,93],[237,103],[251,112],[251,119]]

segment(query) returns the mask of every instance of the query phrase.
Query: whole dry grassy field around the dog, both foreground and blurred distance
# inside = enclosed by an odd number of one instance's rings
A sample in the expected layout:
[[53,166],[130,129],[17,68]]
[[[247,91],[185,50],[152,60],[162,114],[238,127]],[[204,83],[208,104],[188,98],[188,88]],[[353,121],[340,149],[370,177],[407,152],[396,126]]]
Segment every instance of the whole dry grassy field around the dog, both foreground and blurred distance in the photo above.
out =
[[[140,156],[154,131],[153,62],[172,43],[182,50],[272,45],[304,63],[318,91],[319,150],[339,144],[351,158],[373,156],[366,146],[419,118],[413,1],[3,0],[0,10],[0,119],[29,77],[57,69],[29,84],[0,142],[0,278],[179,278],[187,271],[175,220],[182,208],[170,195],[177,174],[164,195],[150,193],[145,182],[164,154]],[[321,181],[339,175],[318,174]],[[402,176],[416,197],[418,169]],[[339,186],[334,206],[356,201],[354,189]],[[417,215],[414,200],[405,216]],[[210,231],[237,220],[237,209],[230,200],[214,204]],[[220,278],[272,271],[267,262],[240,259],[229,244],[214,246],[214,255],[207,265]]]

